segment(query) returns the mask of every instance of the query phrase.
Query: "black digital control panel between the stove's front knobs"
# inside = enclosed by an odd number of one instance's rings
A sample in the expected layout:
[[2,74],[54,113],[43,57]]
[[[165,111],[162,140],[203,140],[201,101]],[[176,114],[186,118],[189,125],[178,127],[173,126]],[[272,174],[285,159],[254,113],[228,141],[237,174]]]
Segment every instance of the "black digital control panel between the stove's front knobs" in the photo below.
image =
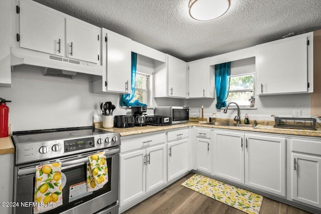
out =
[[65,152],[77,151],[95,147],[94,137],[64,140]]

